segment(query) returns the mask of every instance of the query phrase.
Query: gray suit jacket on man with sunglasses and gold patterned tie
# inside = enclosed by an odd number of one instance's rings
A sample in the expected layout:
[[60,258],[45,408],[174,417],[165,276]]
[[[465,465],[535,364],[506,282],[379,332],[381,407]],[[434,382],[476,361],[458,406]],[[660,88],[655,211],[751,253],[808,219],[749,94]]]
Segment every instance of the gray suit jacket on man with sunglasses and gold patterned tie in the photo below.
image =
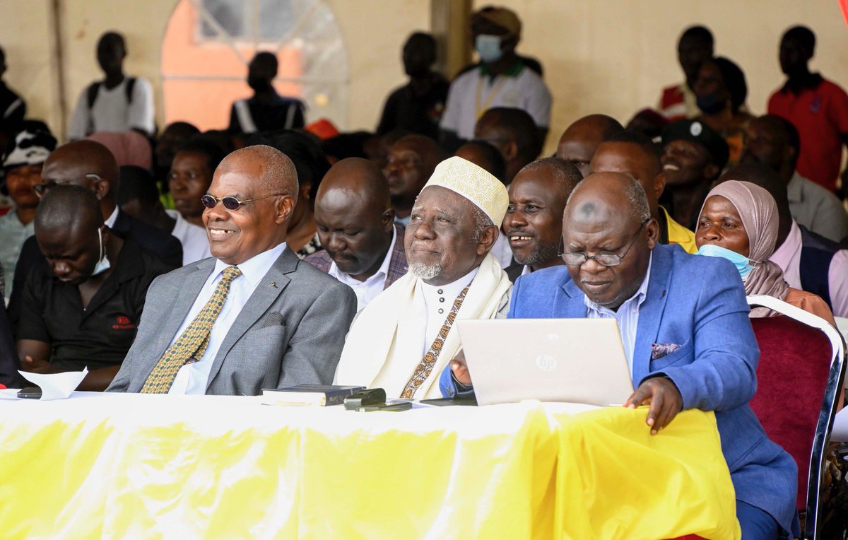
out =
[[[187,264],[150,285],[136,341],[109,392],[139,392],[179,331],[216,259]],[[356,314],[353,289],[286,249],[244,304],[215,355],[207,394],[330,384]]]

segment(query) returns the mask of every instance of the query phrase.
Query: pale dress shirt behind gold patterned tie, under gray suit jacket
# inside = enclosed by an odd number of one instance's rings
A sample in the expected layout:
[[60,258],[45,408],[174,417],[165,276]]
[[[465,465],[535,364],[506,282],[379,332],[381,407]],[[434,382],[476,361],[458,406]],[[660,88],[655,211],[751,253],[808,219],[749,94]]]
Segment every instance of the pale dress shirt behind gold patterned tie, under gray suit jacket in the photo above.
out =
[[[230,331],[230,327],[235,322],[238,314],[242,312],[244,304],[248,303],[250,295],[254,293],[262,278],[265,277],[268,270],[271,270],[271,266],[276,259],[279,259],[284,249],[286,249],[285,242],[276,246],[276,248],[259,253],[259,255],[255,255],[252,259],[248,259],[242,264],[237,265],[238,269],[242,270],[242,275],[232,280],[230,284],[230,292],[226,295],[224,307],[220,309],[220,314],[218,314],[218,318],[215,320],[215,325],[209,331],[209,345],[206,347],[204,355],[197,362],[183,365],[180,368],[176,374],[174,384],[171,385],[168,393],[206,393],[209,370],[212,369],[212,363],[218,354],[220,344],[224,341],[227,332]],[[188,310],[188,315],[182,320],[180,329],[176,331],[168,347],[176,342],[177,338],[182,335],[182,332],[198,316],[200,310],[204,309],[206,303],[209,302],[209,298],[212,298],[212,293],[215,292],[215,287],[218,287],[218,281],[220,281],[224,270],[228,266],[230,264],[226,264],[220,260],[215,263],[215,270],[209,274],[204,287],[198,293],[198,298],[194,299],[192,309]]]

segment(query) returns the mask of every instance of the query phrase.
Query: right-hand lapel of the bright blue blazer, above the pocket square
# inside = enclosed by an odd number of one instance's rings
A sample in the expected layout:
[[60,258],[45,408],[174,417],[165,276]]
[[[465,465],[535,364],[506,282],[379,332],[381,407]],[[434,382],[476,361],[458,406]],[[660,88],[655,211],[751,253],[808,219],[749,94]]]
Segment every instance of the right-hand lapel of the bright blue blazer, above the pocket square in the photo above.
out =
[[639,308],[636,343],[633,346],[633,386],[650,372],[651,345],[660,332],[662,314],[666,309],[668,282],[672,276],[671,249],[657,245],[650,263],[648,293]]

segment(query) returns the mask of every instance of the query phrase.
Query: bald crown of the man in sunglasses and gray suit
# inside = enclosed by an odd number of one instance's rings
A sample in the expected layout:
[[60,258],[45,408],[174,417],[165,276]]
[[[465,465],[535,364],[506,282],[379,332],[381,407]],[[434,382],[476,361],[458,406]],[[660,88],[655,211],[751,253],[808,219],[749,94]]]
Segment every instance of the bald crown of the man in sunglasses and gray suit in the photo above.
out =
[[236,150],[220,162],[215,175],[234,171],[248,173],[257,192],[298,198],[298,171],[292,160],[276,148],[258,144]]

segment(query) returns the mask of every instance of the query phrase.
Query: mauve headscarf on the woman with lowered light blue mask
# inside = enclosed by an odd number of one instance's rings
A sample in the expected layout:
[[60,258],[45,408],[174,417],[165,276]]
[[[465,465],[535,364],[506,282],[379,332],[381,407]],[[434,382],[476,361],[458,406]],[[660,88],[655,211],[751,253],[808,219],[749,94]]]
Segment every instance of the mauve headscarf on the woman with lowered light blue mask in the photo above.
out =
[[[734,205],[748,234],[748,259],[754,270],[745,279],[745,294],[767,294],[783,300],[789,285],[784,280],[783,270],[768,260],[778,241],[778,205],[772,194],[750,182],[731,180],[712,188],[704,206],[709,198],[716,196]],[[700,208],[701,213],[704,206]],[[755,308],[751,309],[750,316],[765,317],[770,313],[770,309]]]

